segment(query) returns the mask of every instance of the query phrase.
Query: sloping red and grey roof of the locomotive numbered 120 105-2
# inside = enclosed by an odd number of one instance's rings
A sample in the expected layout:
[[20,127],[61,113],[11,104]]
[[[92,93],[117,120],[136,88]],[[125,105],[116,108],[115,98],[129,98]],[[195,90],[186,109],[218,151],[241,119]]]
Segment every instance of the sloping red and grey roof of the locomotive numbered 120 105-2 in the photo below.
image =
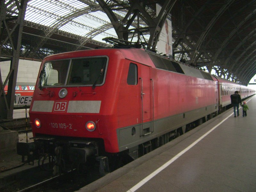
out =
[[90,57],[90,56],[110,56],[111,54],[122,54],[125,59],[147,65],[152,68],[164,69],[188,76],[194,76],[197,78],[213,80],[209,73],[198,70],[179,61],[172,60],[163,55],[151,52],[145,49],[94,49],[94,50],[82,50],[74,52],[64,52],[44,58],[43,62],[50,60],[61,60],[61,59],[71,59],[79,57]]

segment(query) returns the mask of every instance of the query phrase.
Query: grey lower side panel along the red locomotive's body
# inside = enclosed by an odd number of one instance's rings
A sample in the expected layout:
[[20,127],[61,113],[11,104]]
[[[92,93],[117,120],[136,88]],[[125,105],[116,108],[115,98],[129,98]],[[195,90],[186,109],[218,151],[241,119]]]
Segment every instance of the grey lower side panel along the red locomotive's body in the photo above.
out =
[[168,116],[154,121],[142,124],[136,124],[116,130],[118,138],[119,151],[140,145],[161,135],[174,131],[179,127],[196,121],[199,118],[206,117],[216,112],[216,105],[199,108],[196,110]]

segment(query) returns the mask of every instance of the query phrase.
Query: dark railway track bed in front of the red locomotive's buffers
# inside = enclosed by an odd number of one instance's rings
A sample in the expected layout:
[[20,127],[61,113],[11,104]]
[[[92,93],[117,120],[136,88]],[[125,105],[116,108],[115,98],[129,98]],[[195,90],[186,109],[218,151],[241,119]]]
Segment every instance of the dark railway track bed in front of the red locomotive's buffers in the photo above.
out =
[[73,170],[53,176],[39,168],[19,173],[20,179],[0,188],[4,192],[72,192],[100,178],[97,167]]

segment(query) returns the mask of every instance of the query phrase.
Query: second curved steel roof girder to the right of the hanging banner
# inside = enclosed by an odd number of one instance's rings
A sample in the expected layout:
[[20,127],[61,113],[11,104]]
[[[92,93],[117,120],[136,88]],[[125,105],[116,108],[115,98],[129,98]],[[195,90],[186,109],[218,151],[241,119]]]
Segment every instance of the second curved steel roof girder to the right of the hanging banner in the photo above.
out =
[[256,13],[256,9],[253,10],[253,12],[249,13],[244,20],[242,20],[235,29],[233,29],[229,36],[223,41],[223,43],[220,45],[220,48],[217,50],[217,52],[214,55],[213,62],[215,63],[220,52],[227,46],[228,41],[231,39],[231,37],[244,25],[244,23],[249,20],[254,14]]

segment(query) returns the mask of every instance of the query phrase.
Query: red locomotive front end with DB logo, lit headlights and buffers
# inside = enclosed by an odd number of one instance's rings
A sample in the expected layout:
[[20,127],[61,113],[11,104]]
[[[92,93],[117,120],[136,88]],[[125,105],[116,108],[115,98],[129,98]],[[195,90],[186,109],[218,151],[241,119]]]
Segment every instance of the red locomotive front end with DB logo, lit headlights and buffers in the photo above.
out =
[[100,111],[108,56],[78,53],[43,60],[29,111],[34,142],[18,143],[18,154],[80,164],[105,150],[100,120],[108,114]]

